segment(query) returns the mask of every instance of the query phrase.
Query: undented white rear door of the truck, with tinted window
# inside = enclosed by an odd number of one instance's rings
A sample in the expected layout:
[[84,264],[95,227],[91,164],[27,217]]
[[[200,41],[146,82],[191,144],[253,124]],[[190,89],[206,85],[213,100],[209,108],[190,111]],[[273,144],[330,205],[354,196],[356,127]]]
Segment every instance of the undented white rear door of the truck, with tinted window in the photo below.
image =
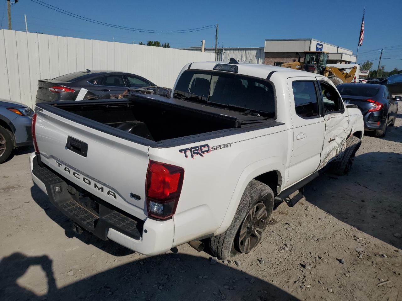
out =
[[317,170],[321,160],[325,123],[319,86],[314,77],[288,79],[293,150],[285,186],[307,177]]

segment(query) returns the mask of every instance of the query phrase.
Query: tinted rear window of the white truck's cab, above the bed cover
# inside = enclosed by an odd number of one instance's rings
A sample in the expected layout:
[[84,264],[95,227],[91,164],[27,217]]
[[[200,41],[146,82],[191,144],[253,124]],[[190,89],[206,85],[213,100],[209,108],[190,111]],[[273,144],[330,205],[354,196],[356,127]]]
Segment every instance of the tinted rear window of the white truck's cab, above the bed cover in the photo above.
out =
[[180,76],[174,97],[238,112],[248,110],[275,117],[275,94],[271,83],[234,73],[187,70]]

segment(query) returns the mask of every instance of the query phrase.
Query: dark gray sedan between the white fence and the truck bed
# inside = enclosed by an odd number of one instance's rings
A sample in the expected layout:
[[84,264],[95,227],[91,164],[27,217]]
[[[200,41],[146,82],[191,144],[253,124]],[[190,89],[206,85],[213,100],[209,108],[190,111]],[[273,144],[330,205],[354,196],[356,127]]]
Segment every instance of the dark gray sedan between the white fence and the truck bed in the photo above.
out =
[[122,94],[129,88],[149,86],[155,84],[131,73],[109,70],[78,71],[53,79],[39,80],[36,103],[76,100],[81,88],[88,90],[84,100],[95,100],[111,98],[111,94]]

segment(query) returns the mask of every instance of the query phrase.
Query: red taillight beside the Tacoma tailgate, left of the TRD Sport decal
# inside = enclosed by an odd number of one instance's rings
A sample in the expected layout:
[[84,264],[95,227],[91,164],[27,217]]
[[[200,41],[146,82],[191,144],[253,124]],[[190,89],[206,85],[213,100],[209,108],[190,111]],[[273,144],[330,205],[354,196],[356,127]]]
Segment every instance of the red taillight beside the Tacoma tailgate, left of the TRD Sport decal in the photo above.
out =
[[183,168],[150,160],[146,179],[148,216],[165,220],[176,212],[183,179]]

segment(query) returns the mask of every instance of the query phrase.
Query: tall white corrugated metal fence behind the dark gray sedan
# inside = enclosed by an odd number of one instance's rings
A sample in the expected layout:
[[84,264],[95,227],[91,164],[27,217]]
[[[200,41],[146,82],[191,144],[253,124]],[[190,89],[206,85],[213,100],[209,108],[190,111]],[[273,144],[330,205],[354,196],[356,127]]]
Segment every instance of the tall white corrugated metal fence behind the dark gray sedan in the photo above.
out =
[[0,31],[0,98],[35,106],[39,79],[86,69],[141,75],[172,88],[183,66],[215,54],[117,42]]

